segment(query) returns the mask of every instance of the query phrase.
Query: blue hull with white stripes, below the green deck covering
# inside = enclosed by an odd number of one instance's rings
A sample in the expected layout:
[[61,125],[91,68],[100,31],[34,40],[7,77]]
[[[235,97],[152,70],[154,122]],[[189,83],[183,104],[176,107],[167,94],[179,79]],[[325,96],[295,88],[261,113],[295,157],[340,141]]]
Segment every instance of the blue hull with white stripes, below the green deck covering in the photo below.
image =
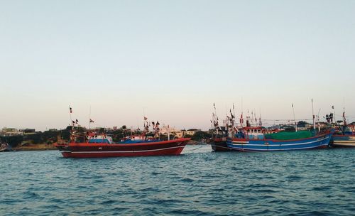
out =
[[227,146],[237,151],[292,151],[311,148],[325,148],[329,145],[332,133],[312,136],[305,139],[229,139]]

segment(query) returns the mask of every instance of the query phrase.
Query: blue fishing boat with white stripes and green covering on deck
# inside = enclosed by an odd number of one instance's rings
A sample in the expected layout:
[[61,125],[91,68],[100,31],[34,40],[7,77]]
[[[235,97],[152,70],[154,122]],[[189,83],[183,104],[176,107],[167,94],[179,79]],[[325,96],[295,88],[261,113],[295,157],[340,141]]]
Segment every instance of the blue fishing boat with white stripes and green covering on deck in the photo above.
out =
[[227,146],[237,151],[290,151],[327,148],[333,132],[315,135],[312,131],[279,132],[274,134],[244,134],[240,131]]

